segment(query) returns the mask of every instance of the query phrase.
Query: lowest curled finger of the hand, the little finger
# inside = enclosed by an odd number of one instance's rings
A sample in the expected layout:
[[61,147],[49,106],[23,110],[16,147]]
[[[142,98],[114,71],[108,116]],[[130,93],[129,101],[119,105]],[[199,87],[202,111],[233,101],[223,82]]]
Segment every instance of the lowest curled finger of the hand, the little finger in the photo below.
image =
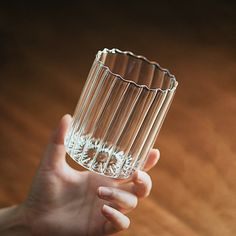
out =
[[103,228],[104,234],[113,234],[125,230],[130,225],[130,220],[127,216],[110,206],[104,205],[102,214],[108,220]]

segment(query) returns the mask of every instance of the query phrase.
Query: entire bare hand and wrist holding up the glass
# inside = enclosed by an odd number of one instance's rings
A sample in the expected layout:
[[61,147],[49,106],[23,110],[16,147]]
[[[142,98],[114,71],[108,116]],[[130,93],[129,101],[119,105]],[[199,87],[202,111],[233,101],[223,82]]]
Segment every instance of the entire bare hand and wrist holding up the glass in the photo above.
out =
[[157,163],[157,149],[150,151],[144,171],[127,180],[80,172],[65,159],[63,143],[70,121],[70,115],[61,119],[27,199],[0,210],[0,235],[113,234],[129,227],[126,214],[149,195],[152,181],[146,171]]

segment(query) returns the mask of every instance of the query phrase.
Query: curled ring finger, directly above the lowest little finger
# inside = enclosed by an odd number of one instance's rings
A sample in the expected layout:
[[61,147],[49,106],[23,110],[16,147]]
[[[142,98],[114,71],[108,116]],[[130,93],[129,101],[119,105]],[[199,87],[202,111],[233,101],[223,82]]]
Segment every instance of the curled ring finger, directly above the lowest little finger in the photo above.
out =
[[98,196],[103,200],[113,203],[118,210],[124,213],[133,210],[138,203],[136,195],[113,187],[99,187]]

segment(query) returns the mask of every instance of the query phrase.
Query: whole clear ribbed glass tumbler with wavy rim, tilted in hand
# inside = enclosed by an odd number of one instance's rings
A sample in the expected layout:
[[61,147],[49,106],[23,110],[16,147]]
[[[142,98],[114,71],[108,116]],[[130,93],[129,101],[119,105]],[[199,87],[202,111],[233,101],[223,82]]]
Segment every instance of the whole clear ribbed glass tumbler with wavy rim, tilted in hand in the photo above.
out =
[[99,51],[66,134],[67,153],[96,173],[130,177],[144,166],[177,84],[143,56]]

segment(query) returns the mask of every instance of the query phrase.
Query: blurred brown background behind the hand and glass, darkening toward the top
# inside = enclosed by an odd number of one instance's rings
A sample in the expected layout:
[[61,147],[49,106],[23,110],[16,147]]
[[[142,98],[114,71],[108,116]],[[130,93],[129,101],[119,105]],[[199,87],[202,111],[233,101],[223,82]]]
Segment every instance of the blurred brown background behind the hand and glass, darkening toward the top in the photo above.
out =
[[236,235],[234,1],[0,3],[0,207],[22,202],[95,54],[119,48],[179,81],[153,191],[118,235]]

